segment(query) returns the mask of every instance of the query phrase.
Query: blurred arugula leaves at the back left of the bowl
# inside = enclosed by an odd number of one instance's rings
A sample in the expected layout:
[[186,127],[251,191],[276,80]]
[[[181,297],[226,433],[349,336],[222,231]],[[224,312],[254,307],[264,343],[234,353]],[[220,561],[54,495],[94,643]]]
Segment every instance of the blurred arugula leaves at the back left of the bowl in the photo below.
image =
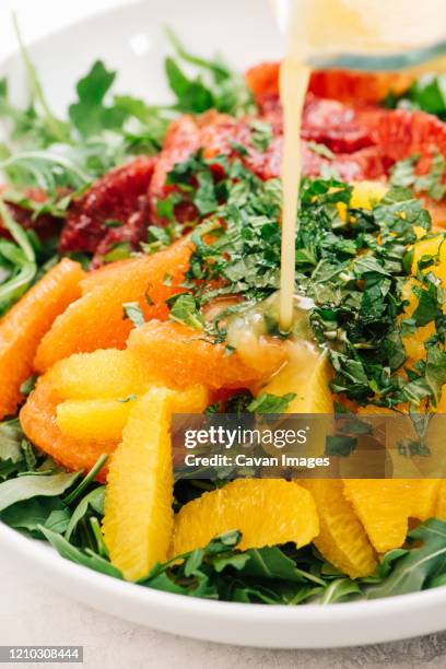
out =
[[[204,60],[188,52],[168,31],[174,55],[166,59],[165,68],[172,104],[151,105],[114,93],[117,73],[97,60],[77,83],[68,117],[59,119],[51,111],[14,22],[31,99],[25,108],[17,107],[10,101],[8,81],[0,81],[0,119],[8,124],[11,138],[0,144],[0,171],[8,181],[0,214],[13,238],[0,240],[0,316],[33,284],[38,270],[47,269],[45,263],[57,258],[56,240],[42,245],[32,231],[23,231],[9,214],[9,203],[28,210],[33,219],[44,214],[63,219],[70,202],[94,179],[140,153],[156,153],[175,115],[211,108],[238,115],[255,108],[238,73],[221,60]],[[184,64],[195,74],[186,74]],[[30,197],[33,187],[46,193],[44,201]],[[153,234],[167,237],[168,233]],[[119,251],[110,251],[107,260],[118,260]]]

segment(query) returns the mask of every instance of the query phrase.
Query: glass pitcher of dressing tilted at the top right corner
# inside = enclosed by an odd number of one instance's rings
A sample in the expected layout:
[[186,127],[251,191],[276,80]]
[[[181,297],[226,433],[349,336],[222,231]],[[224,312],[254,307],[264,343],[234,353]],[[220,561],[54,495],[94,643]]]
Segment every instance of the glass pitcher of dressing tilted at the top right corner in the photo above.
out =
[[446,69],[446,0],[271,0],[314,69]]

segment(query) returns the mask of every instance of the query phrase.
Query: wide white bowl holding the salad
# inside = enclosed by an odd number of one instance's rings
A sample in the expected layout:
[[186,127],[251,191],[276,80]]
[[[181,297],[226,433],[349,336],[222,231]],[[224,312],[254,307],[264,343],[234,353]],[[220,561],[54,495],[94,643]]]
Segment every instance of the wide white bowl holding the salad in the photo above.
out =
[[[37,10],[36,10],[37,11]],[[32,56],[48,98],[60,111],[73,84],[102,58],[119,70],[117,90],[153,102],[167,95],[162,61],[163,26],[172,26],[195,51],[220,48],[240,69],[277,58],[281,39],[267,0],[163,0],[114,10],[33,45]],[[25,94],[20,60],[0,63],[15,97]],[[301,607],[208,601],[151,590],[92,572],[60,558],[0,523],[0,551],[27,573],[68,597],[165,632],[227,644],[322,648],[408,638],[446,629],[446,587],[388,599]]]

